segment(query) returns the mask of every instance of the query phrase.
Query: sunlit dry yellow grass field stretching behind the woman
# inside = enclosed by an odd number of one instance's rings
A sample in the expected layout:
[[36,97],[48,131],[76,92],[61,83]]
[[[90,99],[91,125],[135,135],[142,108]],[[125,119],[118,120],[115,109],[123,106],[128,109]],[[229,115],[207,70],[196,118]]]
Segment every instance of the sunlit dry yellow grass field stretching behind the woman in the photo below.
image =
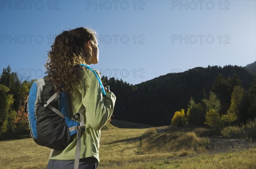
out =
[[[120,121],[119,121],[120,122]],[[127,125],[126,125],[127,127]],[[154,129],[107,127],[102,130],[99,169],[255,169],[256,148],[211,153],[206,149],[184,146],[166,151],[172,146],[156,146],[151,142]],[[150,135],[148,133],[151,133]],[[194,135],[185,133],[185,136]],[[159,139],[165,134],[158,135]],[[183,135],[184,137],[184,135]],[[192,141],[196,141],[196,137]],[[198,145],[201,146],[202,145]],[[147,151],[148,150],[148,151]],[[164,151],[165,150],[165,151]],[[38,146],[32,139],[0,142],[0,169],[45,169],[49,149]]]

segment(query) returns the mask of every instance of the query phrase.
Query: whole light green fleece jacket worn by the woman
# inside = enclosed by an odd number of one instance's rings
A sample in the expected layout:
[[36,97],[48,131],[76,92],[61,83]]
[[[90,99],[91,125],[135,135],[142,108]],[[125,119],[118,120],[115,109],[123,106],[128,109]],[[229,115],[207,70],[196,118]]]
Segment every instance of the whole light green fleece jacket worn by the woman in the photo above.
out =
[[[100,77],[97,70],[95,72]],[[89,69],[83,70],[84,75],[80,85],[73,86],[70,94],[71,114],[75,114],[83,106],[85,131],[81,134],[80,158],[94,157],[99,161],[100,130],[111,118],[116,96],[106,92],[102,97],[102,89],[95,74]],[[79,119],[78,119],[79,121]],[[73,141],[61,151],[53,150],[50,160],[74,160],[76,152],[76,135]]]

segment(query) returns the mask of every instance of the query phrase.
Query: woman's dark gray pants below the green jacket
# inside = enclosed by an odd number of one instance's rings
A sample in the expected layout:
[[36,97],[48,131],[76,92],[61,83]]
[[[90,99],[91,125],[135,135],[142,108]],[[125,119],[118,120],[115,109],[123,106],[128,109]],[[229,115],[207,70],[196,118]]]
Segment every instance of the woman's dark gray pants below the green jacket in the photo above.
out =
[[[94,157],[79,160],[79,169],[96,169],[98,161]],[[49,160],[47,169],[73,169],[74,160]]]

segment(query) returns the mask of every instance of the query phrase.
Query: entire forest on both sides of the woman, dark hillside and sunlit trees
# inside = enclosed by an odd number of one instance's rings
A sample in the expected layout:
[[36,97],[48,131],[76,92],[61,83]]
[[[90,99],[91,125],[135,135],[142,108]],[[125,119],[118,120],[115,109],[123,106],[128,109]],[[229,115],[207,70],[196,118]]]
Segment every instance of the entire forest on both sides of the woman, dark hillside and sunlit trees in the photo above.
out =
[[[24,106],[35,79],[21,81],[10,66],[0,77],[0,139],[29,136]],[[239,66],[208,66],[130,85],[102,77],[116,95],[113,119],[152,126],[204,126],[212,119],[241,124],[256,117],[256,74]],[[209,115],[214,118],[209,119]],[[207,116],[208,115],[208,116]],[[185,120],[184,120],[185,119]],[[221,125],[221,123],[219,123]]]

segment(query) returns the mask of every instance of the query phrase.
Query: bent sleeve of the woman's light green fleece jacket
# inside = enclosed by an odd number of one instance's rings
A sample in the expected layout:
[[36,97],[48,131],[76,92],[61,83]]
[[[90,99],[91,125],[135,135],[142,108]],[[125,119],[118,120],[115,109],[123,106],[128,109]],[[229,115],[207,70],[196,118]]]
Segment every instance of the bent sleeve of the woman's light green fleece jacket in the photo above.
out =
[[[86,71],[82,90],[86,121],[94,130],[100,130],[113,114],[116,96],[112,92],[106,92],[106,97],[103,99],[102,89],[95,74],[91,70]],[[99,72],[97,70],[95,72],[99,76]]]

